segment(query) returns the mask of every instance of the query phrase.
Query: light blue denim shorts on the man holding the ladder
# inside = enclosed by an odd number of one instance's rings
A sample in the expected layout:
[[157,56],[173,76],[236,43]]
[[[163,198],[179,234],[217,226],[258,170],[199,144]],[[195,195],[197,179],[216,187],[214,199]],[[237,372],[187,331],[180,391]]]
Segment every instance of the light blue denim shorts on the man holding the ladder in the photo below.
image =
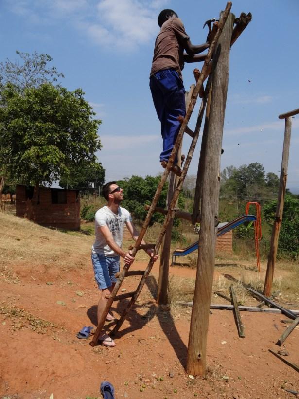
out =
[[91,254],[95,281],[100,290],[105,290],[116,283],[115,274],[120,271],[119,256],[104,256],[99,254]]

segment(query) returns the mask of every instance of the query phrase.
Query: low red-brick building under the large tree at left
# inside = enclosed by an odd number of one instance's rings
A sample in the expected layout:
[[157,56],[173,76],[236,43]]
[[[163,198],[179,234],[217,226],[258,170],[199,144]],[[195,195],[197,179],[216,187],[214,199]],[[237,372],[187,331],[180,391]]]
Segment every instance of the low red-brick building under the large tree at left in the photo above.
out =
[[[26,201],[32,198],[33,189],[20,184],[16,186],[17,216],[24,217]],[[40,187],[32,220],[42,226],[80,230],[80,191]]]

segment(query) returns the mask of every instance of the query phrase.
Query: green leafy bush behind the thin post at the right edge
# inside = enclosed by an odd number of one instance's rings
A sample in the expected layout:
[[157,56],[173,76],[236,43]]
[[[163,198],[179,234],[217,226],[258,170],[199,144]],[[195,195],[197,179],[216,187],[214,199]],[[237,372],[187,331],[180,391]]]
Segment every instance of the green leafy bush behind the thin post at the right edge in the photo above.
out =
[[[273,225],[277,201],[264,205],[264,218]],[[286,195],[284,199],[278,250],[292,259],[299,256],[299,199]]]

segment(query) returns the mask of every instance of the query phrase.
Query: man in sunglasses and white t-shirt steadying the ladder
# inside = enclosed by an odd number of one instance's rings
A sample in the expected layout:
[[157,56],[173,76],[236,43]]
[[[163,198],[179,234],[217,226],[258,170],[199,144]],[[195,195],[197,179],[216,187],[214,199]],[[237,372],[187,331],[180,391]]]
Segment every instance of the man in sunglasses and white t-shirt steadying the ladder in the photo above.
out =
[[[120,271],[120,256],[128,265],[131,265],[135,259],[121,248],[124,224],[135,241],[139,236],[130,213],[120,206],[123,201],[123,189],[115,181],[110,181],[103,186],[103,196],[108,203],[95,214],[95,242],[91,253],[95,280],[102,291],[98,303],[98,322],[108,301],[105,296],[110,295],[117,281],[115,274]],[[145,244],[143,240],[141,243]],[[146,253],[150,257],[154,256],[152,249],[147,249]],[[155,255],[154,259],[156,261],[158,255]],[[110,313],[107,320],[114,320]],[[115,346],[107,334],[103,334],[99,340],[105,346]]]

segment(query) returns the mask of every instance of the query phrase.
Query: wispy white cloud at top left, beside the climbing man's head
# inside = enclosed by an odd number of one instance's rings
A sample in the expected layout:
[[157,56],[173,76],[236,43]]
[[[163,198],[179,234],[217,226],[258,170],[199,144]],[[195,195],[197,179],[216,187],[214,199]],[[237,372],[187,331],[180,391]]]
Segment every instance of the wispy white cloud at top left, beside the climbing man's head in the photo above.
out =
[[158,33],[157,13],[167,0],[5,0],[7,8],[32,24],[57,19],[109,49],[134,50]]

